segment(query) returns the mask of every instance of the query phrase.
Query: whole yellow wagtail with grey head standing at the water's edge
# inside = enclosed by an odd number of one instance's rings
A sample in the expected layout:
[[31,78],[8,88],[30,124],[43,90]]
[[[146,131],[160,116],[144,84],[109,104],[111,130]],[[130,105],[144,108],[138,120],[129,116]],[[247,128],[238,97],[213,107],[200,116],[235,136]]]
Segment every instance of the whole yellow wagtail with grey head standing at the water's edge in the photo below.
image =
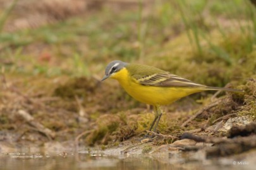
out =
[[133,98],[154,106],[155,118],[149,128],[151,131],[157,121],[154,132],[162,116],[161,105],[169,105],[180,98],[201,91],[240,91],[197,84],[149,65],[128,64],[119,60],[114,60],[107,65],[105,76],[101,81],[108,77],[118,80]]

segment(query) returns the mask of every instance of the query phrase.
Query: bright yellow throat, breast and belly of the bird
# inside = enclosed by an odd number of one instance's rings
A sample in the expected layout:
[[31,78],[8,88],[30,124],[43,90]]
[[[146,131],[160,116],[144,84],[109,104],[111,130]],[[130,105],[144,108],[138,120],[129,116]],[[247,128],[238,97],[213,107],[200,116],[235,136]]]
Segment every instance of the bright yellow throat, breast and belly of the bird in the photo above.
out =
[[169,105],[177,99],[188,96],[189,94],[204,91],[202,89],[193,88],[144,86],[133,79],[126,68],[116,72],[111,78],[118,80],[119,84],[121,84],[125,91],[133,98],[149,105]]

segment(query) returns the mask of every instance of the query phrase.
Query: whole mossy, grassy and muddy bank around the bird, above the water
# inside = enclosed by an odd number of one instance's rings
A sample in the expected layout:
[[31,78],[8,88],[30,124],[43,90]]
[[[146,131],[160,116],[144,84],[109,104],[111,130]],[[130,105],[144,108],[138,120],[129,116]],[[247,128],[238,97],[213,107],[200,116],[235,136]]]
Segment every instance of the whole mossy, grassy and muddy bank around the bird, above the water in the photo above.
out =
[[[77,0],[72,8],[68,0],[58,8],[57,0],[35,8],[34,1],[3,2],[0,152],[92,147],[171,157],[204,152],[209,159],[255,150],[256,17],[249,1],[227,3],[228,12],[217,1]],[[154,114],[117,82],[100,81],[114,59],[243,93],[204,92],[164,106],[155,137],[138,140]]]

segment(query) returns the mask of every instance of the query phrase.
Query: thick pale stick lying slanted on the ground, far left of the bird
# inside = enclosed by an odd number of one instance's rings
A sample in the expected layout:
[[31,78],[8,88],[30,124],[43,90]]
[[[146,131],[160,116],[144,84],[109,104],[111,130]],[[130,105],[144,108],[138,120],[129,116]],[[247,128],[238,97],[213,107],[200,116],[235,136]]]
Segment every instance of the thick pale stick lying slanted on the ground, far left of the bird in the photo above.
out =
[[19,110],[18,115],[20,115],[29,125],[32,127],[37,128],[39,132],[44,133],[47,137],[51,137],[51,139],[54,139],[56,136],[55,132],[52,132],[49,128],[44,127],[42,124],[35,122],[34,117],[32,117],[27,111]]

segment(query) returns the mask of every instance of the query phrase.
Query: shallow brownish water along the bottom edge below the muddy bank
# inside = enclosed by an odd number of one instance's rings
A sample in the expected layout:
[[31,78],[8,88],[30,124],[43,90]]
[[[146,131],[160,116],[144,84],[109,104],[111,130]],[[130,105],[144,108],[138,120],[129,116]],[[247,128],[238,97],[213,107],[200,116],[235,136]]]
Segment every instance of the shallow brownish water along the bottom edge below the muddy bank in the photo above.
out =
[[[199,154],[199,156],[197,156]],[[198,159],[195,159],[198,157]],[[0,169],[254,169],[254,162],[233,164],[235,159],[202,160],[200,153],[176,155],[107,156],[99,152],[60,154],[0,154]],[[242,164],[243,163],[243,164]]]

